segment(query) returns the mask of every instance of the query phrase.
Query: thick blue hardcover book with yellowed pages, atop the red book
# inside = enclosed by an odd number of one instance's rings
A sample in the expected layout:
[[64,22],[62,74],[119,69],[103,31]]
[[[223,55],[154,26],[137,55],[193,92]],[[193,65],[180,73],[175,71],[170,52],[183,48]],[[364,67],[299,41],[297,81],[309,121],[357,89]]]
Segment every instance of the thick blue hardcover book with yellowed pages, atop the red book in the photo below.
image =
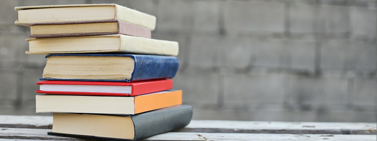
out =
[[47,55],[40,80],[133,82],[173,78],[178,58],[159,55]]

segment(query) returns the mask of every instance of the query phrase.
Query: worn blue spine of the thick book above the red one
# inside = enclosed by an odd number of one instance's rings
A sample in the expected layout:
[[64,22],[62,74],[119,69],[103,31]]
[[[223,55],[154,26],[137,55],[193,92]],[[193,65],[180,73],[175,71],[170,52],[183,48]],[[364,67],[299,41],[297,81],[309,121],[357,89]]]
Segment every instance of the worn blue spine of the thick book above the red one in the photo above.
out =
[[132,55],[135,67],[130,81],[173,78],[179,61],[175,56]]

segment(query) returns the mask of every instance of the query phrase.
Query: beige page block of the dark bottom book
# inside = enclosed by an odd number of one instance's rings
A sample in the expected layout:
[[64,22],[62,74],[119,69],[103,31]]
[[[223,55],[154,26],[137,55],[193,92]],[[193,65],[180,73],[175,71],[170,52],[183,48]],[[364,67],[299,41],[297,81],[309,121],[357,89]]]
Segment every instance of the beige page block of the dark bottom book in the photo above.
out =
[[[92,137],[134,139],[135,129],[130,117],[90,114],[53,113],[54,133]],[[106,139],[108,140],[108,139]]]

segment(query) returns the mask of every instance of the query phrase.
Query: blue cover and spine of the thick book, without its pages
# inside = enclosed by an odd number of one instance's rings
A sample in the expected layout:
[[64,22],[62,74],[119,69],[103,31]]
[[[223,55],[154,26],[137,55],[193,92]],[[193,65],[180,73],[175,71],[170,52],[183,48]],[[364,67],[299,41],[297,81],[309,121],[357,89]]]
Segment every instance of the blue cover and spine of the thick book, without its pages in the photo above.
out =
[[142,80],[173,78],[178,71],[179,61],[175,56],[161,55],[129,55],[129,54],[52,54],[49,56],[123,56],[135,61],[131,79],[53,79],[40,78],[40,80],[69,80],[69,81],[109,81],[109,82],[134,82]]

